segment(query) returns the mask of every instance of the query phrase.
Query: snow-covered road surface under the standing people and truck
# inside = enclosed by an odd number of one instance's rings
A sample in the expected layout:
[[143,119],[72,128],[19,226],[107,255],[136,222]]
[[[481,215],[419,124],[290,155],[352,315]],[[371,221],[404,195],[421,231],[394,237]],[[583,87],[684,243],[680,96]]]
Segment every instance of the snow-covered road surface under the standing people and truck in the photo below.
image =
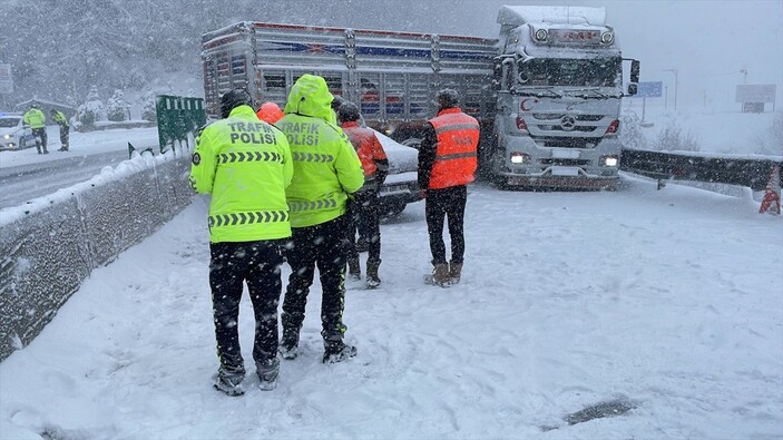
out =
[[[382,289],[348,293],[359,356],[320,363],[316,282],[302,355],[277,390],[242,398],[211,388],[198,198],[0,364],[0,437],[780,438],[780,217],[624,180],[587,194],[472,186],[463,278],[448,290],[421,284],[423,204],[410,205],[382,226]],[[246,299],[239,325],[249,366]],[[636,409],[562,420],[618,398]]]

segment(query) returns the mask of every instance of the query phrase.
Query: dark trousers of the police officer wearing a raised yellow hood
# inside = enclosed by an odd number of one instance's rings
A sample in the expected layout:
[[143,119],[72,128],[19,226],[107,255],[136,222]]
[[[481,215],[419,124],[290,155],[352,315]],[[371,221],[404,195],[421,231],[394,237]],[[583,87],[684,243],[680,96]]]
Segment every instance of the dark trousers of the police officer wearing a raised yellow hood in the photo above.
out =
[[298,331],[304,322],[307,293],[313,285],[315,267],[322,287],[321,335],[326,345],[341,343],[345,300],[345,264],[348,262],[349,217],[340,216],[320,225],[293,228],[292,243],[285,251],[291,265],[288,286],[283,300],[281,321],[284,332]]

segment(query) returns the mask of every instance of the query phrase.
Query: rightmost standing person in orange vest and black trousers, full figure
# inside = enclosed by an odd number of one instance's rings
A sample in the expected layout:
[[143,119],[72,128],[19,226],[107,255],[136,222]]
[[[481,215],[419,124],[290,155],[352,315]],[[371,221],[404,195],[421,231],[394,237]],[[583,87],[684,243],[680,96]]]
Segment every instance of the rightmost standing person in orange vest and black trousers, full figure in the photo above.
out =
[[[424,213],[432,252],[432,282],[441,287],[457,284],[464,258],[464,205],[473,182],[479,144],[479,123],[457,107],[456,90],[437,95],[438,116],[425,125],[419,149],[419,187],[425,197]],[[451,238],[451,264],[446,260],[443,219]]]

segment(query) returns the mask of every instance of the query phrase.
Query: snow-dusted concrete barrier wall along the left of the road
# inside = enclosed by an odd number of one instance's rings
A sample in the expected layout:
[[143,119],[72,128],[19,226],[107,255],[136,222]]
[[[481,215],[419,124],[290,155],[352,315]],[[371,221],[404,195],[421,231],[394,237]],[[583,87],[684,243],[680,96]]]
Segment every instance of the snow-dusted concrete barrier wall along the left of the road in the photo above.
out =
[[29,344],[90,272],[190,204],[189,151],[137,156],[0,218],[0,361]]

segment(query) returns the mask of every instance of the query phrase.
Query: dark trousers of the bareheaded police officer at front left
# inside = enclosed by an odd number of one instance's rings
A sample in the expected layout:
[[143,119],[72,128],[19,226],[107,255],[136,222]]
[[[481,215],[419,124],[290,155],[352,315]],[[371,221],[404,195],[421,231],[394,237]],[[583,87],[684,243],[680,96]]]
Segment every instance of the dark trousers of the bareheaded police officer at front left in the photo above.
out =
[[277,355],[277,304],[282,291],[280,266],[281,241],[212,243],[209,286],[221,365],[244,372],[239,350],[239,301],[243,282],[253,303],[255,336],[253,359],[268,362]]

